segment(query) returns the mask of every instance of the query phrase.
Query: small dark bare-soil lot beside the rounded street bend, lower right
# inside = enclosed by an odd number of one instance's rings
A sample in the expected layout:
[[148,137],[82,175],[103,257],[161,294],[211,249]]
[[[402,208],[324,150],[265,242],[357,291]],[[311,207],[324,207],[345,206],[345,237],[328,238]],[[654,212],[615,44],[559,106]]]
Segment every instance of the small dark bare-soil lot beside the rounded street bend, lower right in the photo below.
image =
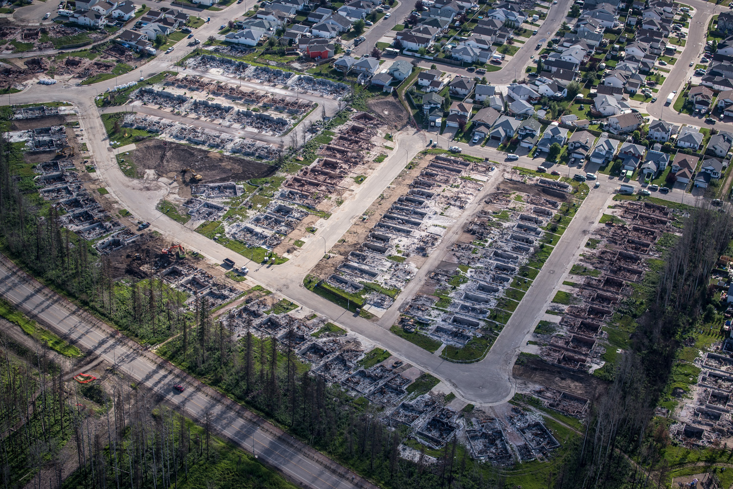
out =
[[515,365],[512,374],[517,381],[529,381],[532,384],[572,392],[590,400],[597,399],[607,386],[604,381],[588,373],[570,372],[541,359],[528,359],[524,365]]

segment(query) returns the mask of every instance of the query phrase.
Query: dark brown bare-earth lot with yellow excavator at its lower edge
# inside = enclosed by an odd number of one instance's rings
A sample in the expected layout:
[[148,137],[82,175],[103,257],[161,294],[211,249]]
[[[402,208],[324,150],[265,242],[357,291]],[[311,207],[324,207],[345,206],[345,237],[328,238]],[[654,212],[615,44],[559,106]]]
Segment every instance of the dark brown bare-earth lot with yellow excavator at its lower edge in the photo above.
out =
[[172,179],[183,168],[193,168],[204,177],[202,183],[241,182],[270,176],[277,171],[275,166],[256,160],[159,139],[136,143],[133,158],[137,176],[145,176],[146,170],[155,170],[158,176]]

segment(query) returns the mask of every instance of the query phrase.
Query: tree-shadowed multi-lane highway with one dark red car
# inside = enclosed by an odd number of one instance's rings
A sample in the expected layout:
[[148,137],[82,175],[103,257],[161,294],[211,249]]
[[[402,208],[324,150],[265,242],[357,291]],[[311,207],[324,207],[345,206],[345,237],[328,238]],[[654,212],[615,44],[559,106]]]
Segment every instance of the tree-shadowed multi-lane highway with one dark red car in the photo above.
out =
[[[254,450],[255,455],[265,463],[277,466],[290,479],[316,489],[375,488],[361,479],[358,482],[353,481],[353,474],[330,460],[329,465],[335,471],[325,468],[312,460],[320,458],[312,449],[297,441],[294,446],[290,436],[277,436],[279,430],[268,422],[258,425],[248,421],[232,406],[222,403],[218,397],[209,397],[208,389],[201,389],[193,378],[175,367],[163,367],[151,362],[144,354],[133,350],[128,343],[90,326],[86,317],[72,312],[73,306],[65,307],[64,299],[55,294],[49,298],[39,288],[44,289],[29,282],[23,272],[15,272],[7,264],[0,262],[0,289],[20,310],[40,321],[54,324],[67,340],[94,351],[111,364],[116,362],[121,370],[140,385],[161,395],[166,402],[185,409],[191,417],[202,420],[206,413],[210,414],[213,425],[227,438],[249,452]],[[176,384],[184,384],[185,391],[175,391],[173,386]],[[310,455],[311,458],[305,455]]]

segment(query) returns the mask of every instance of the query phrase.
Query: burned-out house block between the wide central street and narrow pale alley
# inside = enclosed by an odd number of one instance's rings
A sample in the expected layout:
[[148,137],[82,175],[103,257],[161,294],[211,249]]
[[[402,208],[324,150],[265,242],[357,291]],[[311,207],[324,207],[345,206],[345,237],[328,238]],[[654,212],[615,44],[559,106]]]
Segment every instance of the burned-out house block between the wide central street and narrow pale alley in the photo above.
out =
[[420,154],[312,270],[309,287],[354,298],[381,316],[485,186],[489,168],[482,160]]

